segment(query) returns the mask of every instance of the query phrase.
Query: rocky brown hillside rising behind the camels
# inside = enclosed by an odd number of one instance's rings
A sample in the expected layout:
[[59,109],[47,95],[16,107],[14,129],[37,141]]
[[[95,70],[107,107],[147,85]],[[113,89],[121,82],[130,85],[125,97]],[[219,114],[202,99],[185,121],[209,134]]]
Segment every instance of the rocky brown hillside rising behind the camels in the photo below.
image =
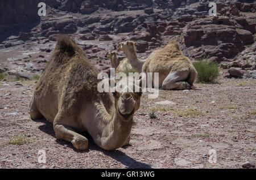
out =
[[[39,2],[46,3],[47,16],[38,16]],[[209,16],[209,2],[217,2],[217,16]],[[146,58],[175,38],[192,61],[218,62],[227,78],[256,78],[255,10],[254,1],[1,1],[0,71],[27,79],[40,74],[56,35],[66,33],[106,72],[106,54],[120,41],[136,41]]]

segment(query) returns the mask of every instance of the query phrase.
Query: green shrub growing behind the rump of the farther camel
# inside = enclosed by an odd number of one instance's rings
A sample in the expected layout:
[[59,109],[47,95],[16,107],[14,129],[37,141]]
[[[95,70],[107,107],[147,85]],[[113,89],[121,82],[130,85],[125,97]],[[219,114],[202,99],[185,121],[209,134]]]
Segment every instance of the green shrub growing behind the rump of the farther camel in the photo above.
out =
[[202,83],[216,83],[220,75],[220,68],[214,62],[199,60],[193,64],[198,72],[197,79]]

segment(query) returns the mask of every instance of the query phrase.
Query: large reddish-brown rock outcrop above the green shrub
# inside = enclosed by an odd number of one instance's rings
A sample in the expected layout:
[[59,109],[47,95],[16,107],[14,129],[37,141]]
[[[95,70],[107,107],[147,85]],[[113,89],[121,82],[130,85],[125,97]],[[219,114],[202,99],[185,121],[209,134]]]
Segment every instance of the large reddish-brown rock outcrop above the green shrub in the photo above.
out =
[[254,40],[251,32],[234,27],[228,18],[212,18],[191,22],[185,31],[184,42],[187,48],[201,47],[194,58],[209,55],[217,57],[220,62],[236,57],[245,45],[252,44]]

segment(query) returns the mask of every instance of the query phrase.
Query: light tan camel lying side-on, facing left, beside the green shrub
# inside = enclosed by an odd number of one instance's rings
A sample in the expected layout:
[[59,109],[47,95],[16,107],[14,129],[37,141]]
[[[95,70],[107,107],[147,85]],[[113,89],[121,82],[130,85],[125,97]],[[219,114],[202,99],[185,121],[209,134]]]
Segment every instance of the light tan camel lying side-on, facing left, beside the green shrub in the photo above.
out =
[[162,89],[195,89],[196,69],[190,59],[183,55],[176,41],[155,50],[145,60],[137,58],[135,45],[133,41],[120,42],[118,45],[118,52],[125,53],[134,70],[139,73],[153,72],[153,75],[159,72],[159,88]]

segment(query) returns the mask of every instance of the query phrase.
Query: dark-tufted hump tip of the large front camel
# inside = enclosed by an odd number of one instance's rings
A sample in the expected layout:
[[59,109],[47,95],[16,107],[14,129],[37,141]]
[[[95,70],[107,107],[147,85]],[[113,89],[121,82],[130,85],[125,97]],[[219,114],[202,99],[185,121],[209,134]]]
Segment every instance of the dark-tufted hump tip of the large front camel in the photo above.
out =
[[68,54],[72,55],[75,54],[76,49],[76,42],[73,41],[71,37],[67,35],[59,35],[57,37],[55,50],[59,50],[61,53],[67,52]]

